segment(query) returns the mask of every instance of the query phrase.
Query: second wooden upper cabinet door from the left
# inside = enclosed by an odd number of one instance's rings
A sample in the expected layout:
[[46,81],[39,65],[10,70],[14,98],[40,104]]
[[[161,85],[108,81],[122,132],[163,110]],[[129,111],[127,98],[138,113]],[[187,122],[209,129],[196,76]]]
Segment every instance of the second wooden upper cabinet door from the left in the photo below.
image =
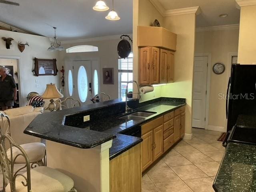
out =
[[160,49],[152,47],[151,84],[159,83]]

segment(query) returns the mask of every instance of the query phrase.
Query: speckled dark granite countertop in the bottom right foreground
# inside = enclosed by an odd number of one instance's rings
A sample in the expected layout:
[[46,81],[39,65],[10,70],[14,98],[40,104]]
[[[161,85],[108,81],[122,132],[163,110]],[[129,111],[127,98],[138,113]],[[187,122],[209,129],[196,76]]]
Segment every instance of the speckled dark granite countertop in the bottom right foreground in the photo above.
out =
[[213,188],[216,192],[256,192],[256,146],[229,142]]

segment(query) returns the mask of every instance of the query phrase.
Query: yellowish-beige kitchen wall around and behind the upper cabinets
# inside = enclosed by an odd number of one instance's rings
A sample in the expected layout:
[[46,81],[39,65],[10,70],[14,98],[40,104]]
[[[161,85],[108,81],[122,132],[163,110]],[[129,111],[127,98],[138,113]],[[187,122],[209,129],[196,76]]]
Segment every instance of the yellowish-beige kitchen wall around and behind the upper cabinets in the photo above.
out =
[[161,26],[177,34],[175,52],[175,83],[155,87],[154,92],[142,95],[142,100],[159,96],[186,98],[186,134],[191,134],[192,79],[195,44],[195,14],[162,17],[149,0],[134,0],[134,80],[138,80],[138,48],[136,45],[137,26],[149,26],[158,19]]

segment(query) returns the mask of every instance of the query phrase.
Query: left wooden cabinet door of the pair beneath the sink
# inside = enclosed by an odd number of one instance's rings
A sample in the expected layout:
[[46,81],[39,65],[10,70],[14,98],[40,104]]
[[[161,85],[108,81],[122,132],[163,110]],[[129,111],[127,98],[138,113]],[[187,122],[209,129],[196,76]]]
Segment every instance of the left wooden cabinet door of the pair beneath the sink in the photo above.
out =
[[144,171],[153,162],[153,131],[144,134],[141,143],[141,165]]

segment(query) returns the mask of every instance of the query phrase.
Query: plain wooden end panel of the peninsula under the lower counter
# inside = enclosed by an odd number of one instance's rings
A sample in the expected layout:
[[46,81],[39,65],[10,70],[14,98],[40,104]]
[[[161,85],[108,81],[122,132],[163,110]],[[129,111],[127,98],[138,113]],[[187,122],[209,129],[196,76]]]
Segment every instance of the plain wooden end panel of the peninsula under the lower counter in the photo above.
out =
[[141,192],[140,144],[110,160],[110,192]]

